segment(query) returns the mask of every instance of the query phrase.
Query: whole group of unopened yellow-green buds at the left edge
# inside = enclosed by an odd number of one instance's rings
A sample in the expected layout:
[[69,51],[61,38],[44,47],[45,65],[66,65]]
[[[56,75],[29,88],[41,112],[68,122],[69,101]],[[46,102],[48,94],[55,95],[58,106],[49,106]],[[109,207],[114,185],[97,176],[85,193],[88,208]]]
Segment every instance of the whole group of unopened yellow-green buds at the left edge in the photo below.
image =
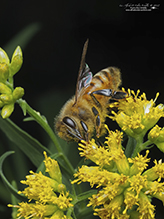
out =
[[22,87],[13,88],[13,76],[21,68],[22,62],[22,51],[19,46],[13,53],[11,63],[6,52],[0,48],[0,108],[4,119],[11,115],[15,102],[24,95]]

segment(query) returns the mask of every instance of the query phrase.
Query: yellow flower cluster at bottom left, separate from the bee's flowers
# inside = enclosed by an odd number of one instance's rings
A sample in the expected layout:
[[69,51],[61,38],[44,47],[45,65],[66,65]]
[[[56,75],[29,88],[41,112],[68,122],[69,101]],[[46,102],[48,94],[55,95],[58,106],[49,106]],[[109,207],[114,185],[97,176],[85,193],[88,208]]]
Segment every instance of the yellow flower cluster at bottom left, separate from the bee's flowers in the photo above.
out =
[[[19,191],[28,197],[29,203],[21,202],[18,205],[8,205],[9,207],[18,208],[18,218],[61,218],[69,219],[64,212],[73,205],[70,203],[72,198],[69,197],[69,192],[66,192],[66,187],[62,184],[61,172],[58,163],[45,155],[46,171],[51,174],[56,171],[56,179],[43,175],[41,172],[26,176],[26,180],[21,183],[27,185],[24,191]],[[32,202],[31,202],[32,201]],[[58,217],[60,215],[60,217]]]

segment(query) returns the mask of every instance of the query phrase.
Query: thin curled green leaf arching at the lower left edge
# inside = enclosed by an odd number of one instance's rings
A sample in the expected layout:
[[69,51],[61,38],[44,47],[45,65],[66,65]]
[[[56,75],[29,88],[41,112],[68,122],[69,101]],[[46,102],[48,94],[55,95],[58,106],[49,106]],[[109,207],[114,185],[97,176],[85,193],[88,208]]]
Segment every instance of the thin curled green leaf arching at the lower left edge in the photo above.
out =
[[16,197],[18,198],[19,200],[26,200],[27,201],[27,198],[22,195],[22,194],[18,194],[18,190],[15,189],[10,183],[9,181],[6,179],[5,175],[3,174],[3,171],[2,171],[2,165],[3,165],[3,162],[4,160],[6,159],[6,157],[8,157],[9,155],[13,154],[14,151],[8,151],[6,153],[4,153],[1,157],[0,157],[0,176],[2,177],[2,180],[4,182],[4,184],[7,186],[7,188],[9,189],[9,191]]

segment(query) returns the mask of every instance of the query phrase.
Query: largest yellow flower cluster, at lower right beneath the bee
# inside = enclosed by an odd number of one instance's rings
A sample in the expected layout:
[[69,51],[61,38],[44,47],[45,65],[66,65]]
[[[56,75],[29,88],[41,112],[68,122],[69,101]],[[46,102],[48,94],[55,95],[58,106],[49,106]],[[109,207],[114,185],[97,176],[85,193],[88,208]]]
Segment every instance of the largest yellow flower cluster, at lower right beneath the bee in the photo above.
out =
[[138,153],[134,158],[127,158],[122,150],[122,134],[109,129],[108,132],[103,150],[93,139],[79,144],[80,155],[95,165],[79,168],[72,183],[89,182],[91,187],[101,188],[89,198],[87,205],[92,206],[94,214],[101,219],[126,219],[132,215],[134,218],[154,219],[155,207],[150,200],[155,197],[164,202],[164,183],[160,182],[164,178],[164,164],[155,161],[155,166],[146,170],[150,162],[149,151],[145,156]]

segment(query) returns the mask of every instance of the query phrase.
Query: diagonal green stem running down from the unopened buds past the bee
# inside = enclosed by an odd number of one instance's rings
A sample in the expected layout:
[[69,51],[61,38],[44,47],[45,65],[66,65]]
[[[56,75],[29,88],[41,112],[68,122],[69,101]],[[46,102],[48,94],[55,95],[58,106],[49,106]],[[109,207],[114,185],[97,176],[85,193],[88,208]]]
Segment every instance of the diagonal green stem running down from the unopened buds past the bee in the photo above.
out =
[[64,154],[64,151],[62,149],[62,147],[60,146],[57,137],[55,136],[54,132],[52,131],[51,127],[49,126],[47,120],[42,117],[40,115],[39,112],[36,112],[35,110],[33,110],[25,100],[19,99],[18,104],[20,105],[20,107],[22,108],[22,110],[24,111],[24,114],[27,113],[36,120],[36,122],[47,132],[47,134],[49,135],[49,137],[51,138],[52,142],[54,143],[58,153],[60,153],[61,157],[63,158],[63,160],[65,161],[67,167],[69,168],[69,170],[71,171],[71,173],[73,174],[74,168],[72,166],[72,164],[69,162],[69,160],[67,159],[67,157]]

